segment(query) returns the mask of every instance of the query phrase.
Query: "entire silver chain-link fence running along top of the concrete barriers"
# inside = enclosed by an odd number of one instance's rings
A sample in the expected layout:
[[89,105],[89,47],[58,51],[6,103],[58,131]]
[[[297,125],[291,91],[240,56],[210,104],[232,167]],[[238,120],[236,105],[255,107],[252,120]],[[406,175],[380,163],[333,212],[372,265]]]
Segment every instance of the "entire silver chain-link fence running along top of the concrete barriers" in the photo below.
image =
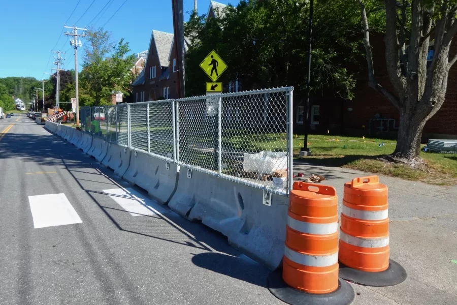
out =
[[81,107],[85,132],[192,170],[285,195],[292,87]]

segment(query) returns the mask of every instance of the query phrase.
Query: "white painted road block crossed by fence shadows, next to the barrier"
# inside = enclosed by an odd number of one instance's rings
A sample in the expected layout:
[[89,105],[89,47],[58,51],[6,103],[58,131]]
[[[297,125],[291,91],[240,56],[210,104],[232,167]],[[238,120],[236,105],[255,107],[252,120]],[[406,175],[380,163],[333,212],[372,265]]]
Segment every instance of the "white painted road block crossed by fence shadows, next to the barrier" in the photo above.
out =
[[167,212],[158,203],[155,203],[132,188],[103,191],[132,216],[156,215]]

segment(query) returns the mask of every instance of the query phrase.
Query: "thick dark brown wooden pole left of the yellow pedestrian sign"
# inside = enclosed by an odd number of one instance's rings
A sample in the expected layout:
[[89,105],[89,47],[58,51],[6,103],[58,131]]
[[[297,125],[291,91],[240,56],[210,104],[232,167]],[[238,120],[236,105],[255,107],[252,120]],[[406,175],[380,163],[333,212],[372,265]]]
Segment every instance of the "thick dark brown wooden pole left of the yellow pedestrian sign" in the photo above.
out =
[[178,66],[178,98],[185,97],[184,75],[184,8],[183,0],[172,0],[173,34],[176,48],[176,65]]

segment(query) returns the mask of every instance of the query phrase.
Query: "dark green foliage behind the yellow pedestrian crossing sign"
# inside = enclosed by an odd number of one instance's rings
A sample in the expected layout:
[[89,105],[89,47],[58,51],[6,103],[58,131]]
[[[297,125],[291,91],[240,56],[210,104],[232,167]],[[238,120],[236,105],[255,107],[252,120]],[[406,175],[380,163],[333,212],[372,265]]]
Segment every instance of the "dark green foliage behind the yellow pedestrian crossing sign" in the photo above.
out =
[[[219,15],[220,16],[220,15]],[[227,6],[223,17],[192,13],[185,24],[191,46],[186,54],[186,95],[204,93],[206,75],[198,67],[215,49],[228,65],[219,78],[224,84],[241,80],[244,88],[294,86],[306,90],[308,73],[309,1],[241,0]],[[332,89],[353,97],[354,76],[346,69],[363,58],[360,12],[355,2],[315,1],[312,83],[314,94]]]

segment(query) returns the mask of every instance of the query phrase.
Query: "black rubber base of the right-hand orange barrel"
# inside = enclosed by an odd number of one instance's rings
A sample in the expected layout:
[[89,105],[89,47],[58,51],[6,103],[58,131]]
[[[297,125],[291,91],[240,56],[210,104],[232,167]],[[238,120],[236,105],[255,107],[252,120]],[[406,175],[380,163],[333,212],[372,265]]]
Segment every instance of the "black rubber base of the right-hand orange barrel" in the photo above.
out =
[[398,285],[407,277],[405,268],[391,259],[389,259],[389,267],[381,272],[360,271],[340,263],[338,276],[355,284],[374,287]]

